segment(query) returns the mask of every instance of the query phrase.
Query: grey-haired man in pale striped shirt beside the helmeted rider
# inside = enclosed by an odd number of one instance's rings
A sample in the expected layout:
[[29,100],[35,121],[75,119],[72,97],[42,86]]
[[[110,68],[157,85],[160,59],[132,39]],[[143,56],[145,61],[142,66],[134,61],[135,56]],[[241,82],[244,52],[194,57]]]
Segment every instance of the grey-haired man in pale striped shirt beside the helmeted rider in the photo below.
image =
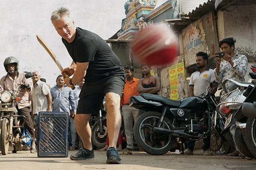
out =
[[38,71],[32,72],[33,86],[30,92],[32,98],[32,119],[34,120],[35,135],[37,136],[38,129],[38,113],[40,111],[51,112],[51,93],[48,84],[40,80]]

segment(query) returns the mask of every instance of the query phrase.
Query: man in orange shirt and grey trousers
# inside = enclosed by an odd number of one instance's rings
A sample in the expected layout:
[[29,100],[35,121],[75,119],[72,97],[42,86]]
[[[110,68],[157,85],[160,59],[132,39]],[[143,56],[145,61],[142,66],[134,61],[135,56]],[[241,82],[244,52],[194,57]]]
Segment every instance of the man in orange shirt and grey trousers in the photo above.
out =
[[121,107],[123,113],[123,121],[125,125],[125,136],[127,147],[124,150],[133,150],[133,121],[136,120],[139,109],[129,106],[129,98],[134,95],[139,95],[137,90],[139,79],[133,77],[133,66],[125,67],[125,87],[121,97]]

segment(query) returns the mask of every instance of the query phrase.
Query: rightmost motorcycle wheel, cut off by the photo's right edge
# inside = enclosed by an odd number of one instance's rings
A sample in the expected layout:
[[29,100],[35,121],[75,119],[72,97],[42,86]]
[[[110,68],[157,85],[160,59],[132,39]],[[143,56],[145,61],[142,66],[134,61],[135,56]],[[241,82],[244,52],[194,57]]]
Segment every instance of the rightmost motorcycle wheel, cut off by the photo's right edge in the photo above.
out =
[[245,143],[251,154],[256,158],[256,119],[248,118],[245,128]]

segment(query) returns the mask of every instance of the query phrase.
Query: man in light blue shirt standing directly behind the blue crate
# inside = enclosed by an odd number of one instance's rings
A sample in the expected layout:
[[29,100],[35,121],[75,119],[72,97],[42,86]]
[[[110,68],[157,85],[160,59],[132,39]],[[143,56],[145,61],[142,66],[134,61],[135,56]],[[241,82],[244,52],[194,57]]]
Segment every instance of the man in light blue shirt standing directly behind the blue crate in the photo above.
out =
[[[71,146],[68,148],[69,150],[74,150],[76,145],[76,130],[73,130],[75,128],[74,124],[74,118],[72,116],[77,112],[76,110],[76,104],[74,100],[74,92],[71,88],[65,85],[65,81],[63,78],[63,75],[59,75],[56,80],[57,85],[52,87],[51,97],[53,101],[53,112],[68,112],[68,115],[70,115],[70,127],[69,132],[71,134]],[[71,108],[71,109],[70,109]],[[72,133],[75,132],[75,133]]]

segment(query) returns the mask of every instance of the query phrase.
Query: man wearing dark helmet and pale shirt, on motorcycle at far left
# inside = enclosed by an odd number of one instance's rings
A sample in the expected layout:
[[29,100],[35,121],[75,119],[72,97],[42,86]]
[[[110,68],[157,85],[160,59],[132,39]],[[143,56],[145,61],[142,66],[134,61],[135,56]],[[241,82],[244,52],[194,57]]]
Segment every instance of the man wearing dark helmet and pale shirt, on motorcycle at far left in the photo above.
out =
[[[27,78],[25,77],[24,72],[18,72],[19,62],[17,58],[8,57],[3,62],[3,65],[7,72],[7,75],[3,76],[0,79],[0,86],[4,90],[14,90],[17,86],[21,84],[32,85],[32,84],[29,84],[29,82],[27,81]],[[28,88],[22,91],[19,91],[17,94],[17,97],[21,98],[21,100],[16,101],[14,105],[18,110],[18,114],[24,115],[26,117],[26,123],[24,125],[24,128],[27,130],[27,132],[32,138],[30,153],[36,153],[35,132],[34,132],[33,121],[30,116],[30,107],[31,107],[30,101],[29,101],[30,91],[31,89],[28,89]],[[23,120],[21,119],[21,124],[22,123],[23,123]]]

